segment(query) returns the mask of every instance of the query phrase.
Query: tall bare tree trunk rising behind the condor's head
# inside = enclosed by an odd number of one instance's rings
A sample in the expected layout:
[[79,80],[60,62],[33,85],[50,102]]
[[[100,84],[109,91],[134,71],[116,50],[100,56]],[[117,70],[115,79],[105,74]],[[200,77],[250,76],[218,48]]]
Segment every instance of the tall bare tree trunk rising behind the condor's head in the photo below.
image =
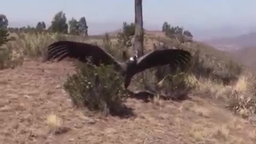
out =
[[142,0],[135,0],[135,34],[133,50],[136,51],[138,57],[141,57],[144,54],[143,40]]

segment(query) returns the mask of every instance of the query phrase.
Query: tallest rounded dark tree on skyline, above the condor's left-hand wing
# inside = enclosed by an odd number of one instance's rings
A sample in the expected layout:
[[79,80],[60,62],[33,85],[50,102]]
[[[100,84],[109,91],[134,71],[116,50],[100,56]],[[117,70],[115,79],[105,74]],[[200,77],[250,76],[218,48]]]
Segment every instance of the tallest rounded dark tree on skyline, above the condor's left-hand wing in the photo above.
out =
[[52,25],[51,25],[52,32],[67,34],[68,25],[66,21],[67,21],[66,14],[63,13],[62,11],[55,14],[52,20]]

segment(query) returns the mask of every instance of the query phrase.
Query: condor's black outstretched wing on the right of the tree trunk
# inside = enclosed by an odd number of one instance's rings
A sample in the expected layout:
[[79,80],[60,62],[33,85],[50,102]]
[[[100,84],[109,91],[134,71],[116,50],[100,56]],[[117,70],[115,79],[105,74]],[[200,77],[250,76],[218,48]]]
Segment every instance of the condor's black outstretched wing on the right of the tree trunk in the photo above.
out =
[[191,54],[185,50],[179,49],[164,49],[156,50],[148,54],[143,55],[137,61],[135,67],[135,73],[140,71],[163,65],[170,65],[175,67],[176,64],[186,64],[191,60]]

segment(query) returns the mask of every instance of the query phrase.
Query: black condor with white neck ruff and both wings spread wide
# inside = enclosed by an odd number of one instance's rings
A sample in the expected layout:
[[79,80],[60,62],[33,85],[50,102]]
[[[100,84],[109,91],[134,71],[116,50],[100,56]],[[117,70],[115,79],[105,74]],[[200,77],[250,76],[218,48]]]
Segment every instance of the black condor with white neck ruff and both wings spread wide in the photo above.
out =
[[75,58],[82,62],[87,62],[91,57],[93,65],[114,65],[115,69],[125,77],[124,87],[130,85],[132,77],[143,70],[169,65],[175,67],[177,63],[187,63],[191,59],[191,54],[185,50],[164,49],[149,52],[138,58],[134,55],[130,59],[119,62],[112,55],[107,53],[101,47],[88,43],[59,41],[52,43],[47,47],[47,59],[57,59],[60,61],[66,57]]

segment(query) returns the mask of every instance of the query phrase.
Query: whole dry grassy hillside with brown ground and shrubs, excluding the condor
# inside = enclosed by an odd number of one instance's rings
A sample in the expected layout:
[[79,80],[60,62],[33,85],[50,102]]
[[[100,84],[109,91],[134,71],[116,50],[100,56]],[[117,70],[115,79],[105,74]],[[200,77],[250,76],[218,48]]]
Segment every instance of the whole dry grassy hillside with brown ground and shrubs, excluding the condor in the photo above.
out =
[[[138,94],[122,95],[122,79],[109,68],[89,69],[74,66],[69,60],[42,61],[46,46],[61,39],[97,43],[119,57],[121,50],[130,47],[123,47],[115,35],[110,39],[59,34],[11,36],[13,41],[0,52],[3,143],[256,142],[255,76],[228,53],[200,42],[180,43],[159,31],[146,31],[146,53],[175,46],[190,51],[194,58],[183,73],[168,76],[155,97],[142,100]],[[154,70],[145,73],[146,81],[153,85],[157,79]],[[95,73],[100,74],[101,85],[89,89],[95,84]],[[133,78],[131,89],[147,90],[140,78]],[[172,99],[160,97],[162,91]],[[124,100],[119,101],[120,97]],[[113,110],[109,106],[120,103],[122,114],[102,115]]]

